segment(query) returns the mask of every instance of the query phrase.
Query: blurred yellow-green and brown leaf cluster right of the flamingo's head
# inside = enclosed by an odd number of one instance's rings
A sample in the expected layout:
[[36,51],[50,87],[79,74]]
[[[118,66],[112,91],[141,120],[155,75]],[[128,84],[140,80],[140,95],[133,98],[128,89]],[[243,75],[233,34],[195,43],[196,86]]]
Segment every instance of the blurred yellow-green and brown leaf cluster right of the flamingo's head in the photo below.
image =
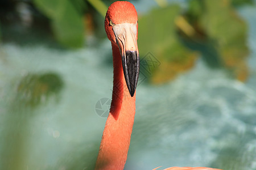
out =
[[[167,5],[142,16],[138,31],[141,56],[150,51],[161,63],[151,69],[151,82],[175,78],[190,69],[200,53],[210,58],[205,61],[216,62],[234,78],[246,80],[247,25],[232,2],[238,4],[229,0],[191,0],[187,11],[181,11],[179,5]],[[187,42],[200,44],[200,48],[189,49]]]

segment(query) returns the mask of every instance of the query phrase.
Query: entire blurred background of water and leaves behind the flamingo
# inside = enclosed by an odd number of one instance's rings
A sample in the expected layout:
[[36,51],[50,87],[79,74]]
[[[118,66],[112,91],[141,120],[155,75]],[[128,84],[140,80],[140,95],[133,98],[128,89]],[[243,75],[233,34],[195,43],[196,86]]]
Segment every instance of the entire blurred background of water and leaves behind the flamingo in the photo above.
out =
[[[93,169],[112,96],[114,1],[0,1],[0,169]],[[256,1],[137,0],[125,169],[256,169]]]

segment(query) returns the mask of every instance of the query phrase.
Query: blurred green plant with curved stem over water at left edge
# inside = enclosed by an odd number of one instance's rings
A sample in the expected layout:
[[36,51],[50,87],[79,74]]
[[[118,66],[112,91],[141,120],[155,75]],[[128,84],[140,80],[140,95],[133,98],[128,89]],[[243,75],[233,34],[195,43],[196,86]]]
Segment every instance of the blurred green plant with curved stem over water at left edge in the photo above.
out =
[[49,96],[58,95],[62,87],[63,80],[55,73],[28,74],[20,80],[3,117],[7,128],[0,133],[0,169],[27,169],[34,108],[46,103]]

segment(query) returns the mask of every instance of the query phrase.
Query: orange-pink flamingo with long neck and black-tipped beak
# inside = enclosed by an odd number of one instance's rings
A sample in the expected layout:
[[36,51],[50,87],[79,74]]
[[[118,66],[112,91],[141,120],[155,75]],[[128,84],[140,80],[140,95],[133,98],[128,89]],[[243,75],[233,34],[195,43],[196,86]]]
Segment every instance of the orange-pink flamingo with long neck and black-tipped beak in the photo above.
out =
[[[138,16],[135,7],[125,1],[112,3],[106,12],[105,30],[112,44],[113,94],[95,169],[119,170],[125,167],[130,146],[135,116],[135,89],[139,78]],[[202,167],[169,169],[213,170]]]

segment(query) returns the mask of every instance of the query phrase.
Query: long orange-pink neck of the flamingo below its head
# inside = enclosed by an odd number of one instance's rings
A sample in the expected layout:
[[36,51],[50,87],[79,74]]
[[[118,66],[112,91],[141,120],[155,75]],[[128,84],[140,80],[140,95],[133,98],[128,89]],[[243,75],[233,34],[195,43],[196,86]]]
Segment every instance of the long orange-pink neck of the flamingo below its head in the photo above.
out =
[[135,96],[130,96],[118,47],[112,44],[114,82],[112,104],[102,135],[95,169],[123,169],[135,116]]

